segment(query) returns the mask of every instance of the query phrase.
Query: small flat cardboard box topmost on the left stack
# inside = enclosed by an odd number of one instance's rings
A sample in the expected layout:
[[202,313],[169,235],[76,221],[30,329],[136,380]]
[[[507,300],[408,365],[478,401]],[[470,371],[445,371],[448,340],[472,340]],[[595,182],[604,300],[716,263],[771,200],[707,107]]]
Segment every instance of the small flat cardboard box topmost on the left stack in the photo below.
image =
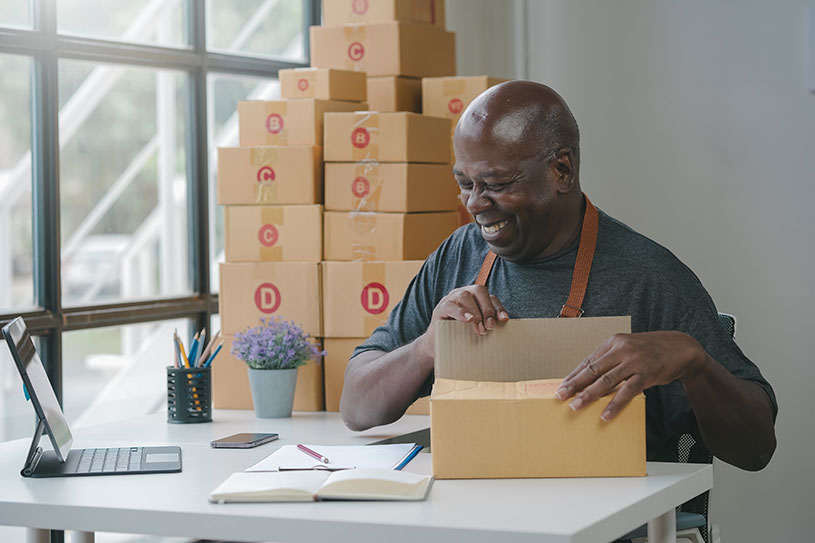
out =
[[283,98],[364,102],[367,96],[366,77],[362,72],[328,68],[290,68],[280,70],[277,74],[280,79],[280,95]]

